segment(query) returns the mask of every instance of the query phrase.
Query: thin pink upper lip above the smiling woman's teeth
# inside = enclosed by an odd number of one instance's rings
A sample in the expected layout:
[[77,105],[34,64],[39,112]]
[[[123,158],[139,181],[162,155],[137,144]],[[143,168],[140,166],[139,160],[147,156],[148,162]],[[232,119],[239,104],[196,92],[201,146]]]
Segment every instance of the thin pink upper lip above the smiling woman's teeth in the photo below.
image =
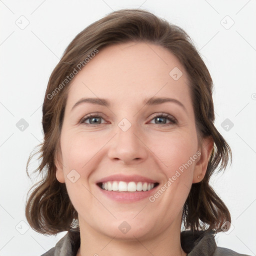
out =
[[98,180],[96,183],[104,183],[107,181],[125,181],[125,182],[130,182],[130,181],[134,181],[134,182],[147,182],[147,183],[156,183],[156,180],[153,180],[151,178],[147,178],[144,176],[140,176],[140,175],[123,175],[123,174],[113,174],[107,177],[104,177],[100,180]]

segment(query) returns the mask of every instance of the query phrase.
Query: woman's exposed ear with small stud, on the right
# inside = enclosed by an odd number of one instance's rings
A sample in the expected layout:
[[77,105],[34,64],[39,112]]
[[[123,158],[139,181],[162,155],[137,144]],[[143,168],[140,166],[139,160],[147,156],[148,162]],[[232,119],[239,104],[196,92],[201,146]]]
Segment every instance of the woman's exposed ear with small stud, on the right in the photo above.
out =
[[201,140],[201,147],[198,149],[200,151],[200,156],[194,166],[192,183],[200,182],[203,179],[213,149],[213,139],[211,136],[204,137]]

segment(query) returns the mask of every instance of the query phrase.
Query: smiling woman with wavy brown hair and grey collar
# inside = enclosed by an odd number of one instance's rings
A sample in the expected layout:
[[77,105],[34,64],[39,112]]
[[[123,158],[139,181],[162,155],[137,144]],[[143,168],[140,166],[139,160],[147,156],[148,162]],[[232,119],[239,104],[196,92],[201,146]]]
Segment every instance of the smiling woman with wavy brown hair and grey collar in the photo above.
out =
[[231,218],[209,179],[231,150],[211,93],[189,36],[150,12],[81,31],[49,78],[26,202],[34,230],[68,231],[43,255],[244,255],[214,240]]

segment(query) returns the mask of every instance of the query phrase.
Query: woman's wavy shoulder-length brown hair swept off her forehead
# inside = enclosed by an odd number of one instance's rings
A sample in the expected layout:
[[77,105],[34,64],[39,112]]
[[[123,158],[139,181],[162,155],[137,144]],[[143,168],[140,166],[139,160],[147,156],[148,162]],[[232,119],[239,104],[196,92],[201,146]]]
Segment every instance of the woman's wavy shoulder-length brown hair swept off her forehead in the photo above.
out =
[[[219,232],[221,225],[225,221],[231,222],[231,218],[226,205],[209,185],[209,179],[215,170],[226,168],[231,160],[231,150],[213,124],[211,76],[183,29],[141,9],[113,11],[90,24],[70,42],[52,71],[42,106],[44,140],[37,151],[40,164],[34,171],[39,171],[42,178],[30,188],[25,206],[27,221],[43,234],[78,230],[75,225],[77,211],[68,197],[65,183],[58,182],[55,176],[55,157],[70,83],[63,81],[95,49],[100,51],[107,45],[128,41],[154,43],[166,48],[178,58],[188,74],[199,142],[200,138],[211,136],[214,143],[204,178],[191,186],[182,220],[186,229]],[[56,90],[57,87],[61,89]],[[26,172],[31,157],[30,154]]]

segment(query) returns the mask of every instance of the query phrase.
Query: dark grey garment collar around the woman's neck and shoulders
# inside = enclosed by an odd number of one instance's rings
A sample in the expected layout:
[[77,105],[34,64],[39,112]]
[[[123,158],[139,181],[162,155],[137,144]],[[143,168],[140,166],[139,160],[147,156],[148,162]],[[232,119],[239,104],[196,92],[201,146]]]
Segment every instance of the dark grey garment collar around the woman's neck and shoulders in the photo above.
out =
[[[187,256],[249,256],[217,247],[212,231],[185,230],[180,233],[182,249]],[[41,256],[76,256],[80,247],[80,233],[68,231],[55,245]]]

